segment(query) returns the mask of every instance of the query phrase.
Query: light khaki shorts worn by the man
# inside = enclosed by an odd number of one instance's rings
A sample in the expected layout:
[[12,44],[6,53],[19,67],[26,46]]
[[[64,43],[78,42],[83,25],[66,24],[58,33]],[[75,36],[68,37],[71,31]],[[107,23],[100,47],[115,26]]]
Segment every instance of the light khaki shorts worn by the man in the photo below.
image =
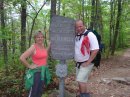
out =
[[80,68],[76,67],[76,81],[86,83],[88,81],[88,77],[93,69],[94,64],[91,63],[86,67],[80,66]]

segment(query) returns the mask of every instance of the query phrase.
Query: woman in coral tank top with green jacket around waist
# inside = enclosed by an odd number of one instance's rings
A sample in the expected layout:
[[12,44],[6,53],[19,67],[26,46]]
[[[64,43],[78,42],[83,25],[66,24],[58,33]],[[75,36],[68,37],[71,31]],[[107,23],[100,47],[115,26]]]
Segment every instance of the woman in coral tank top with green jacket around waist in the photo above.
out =
[[[21,56],[21,62],[29,69],[25,76],[25,88],[30,89],[29,97],[41,97],[43,86],[49,83],[50,74],[47,66],[48,48],[44,47],[44,35],[41,31],[34,35],[35,43]],[[27,61],[31,57],[32,63]]]

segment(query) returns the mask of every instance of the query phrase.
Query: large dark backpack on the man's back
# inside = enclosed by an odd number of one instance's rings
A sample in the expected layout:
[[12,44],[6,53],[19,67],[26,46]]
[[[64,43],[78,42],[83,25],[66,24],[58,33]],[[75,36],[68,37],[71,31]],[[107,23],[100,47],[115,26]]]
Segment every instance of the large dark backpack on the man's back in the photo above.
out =
[[101,51],[102,51],[102,47],[101,47],[101,36],[97,33],[96,30],[92,31],[92,30],[89,30],[89,29],[84,33],[84,36],[87,36],[89,32],[93,32],[94,35],[96,36],[97,40],[98,40],[99,51],[98,51],[97,55],[95,56],[94,60],[92,61],[92,63],[94,63],[94,66],[96,68],[98,68],[100,66]]

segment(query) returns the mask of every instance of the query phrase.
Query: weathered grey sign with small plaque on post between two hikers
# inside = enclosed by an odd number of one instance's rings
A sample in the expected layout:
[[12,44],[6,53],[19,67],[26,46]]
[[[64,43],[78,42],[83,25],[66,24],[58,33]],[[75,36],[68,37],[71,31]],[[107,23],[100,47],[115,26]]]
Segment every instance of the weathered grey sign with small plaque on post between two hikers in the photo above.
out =
[[51,56],[60,60],[56,65],[59,77],[59,97],[64,97],[64,78],[67,76],[65,61],[74,57],[75,21],[63,16],[53,16],[50,25]]

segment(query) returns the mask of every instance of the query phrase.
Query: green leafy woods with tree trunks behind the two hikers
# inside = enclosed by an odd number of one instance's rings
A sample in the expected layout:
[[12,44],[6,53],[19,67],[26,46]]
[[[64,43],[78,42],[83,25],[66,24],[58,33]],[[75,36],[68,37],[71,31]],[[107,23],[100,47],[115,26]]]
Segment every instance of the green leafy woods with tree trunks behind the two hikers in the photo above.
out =
[[[0,95],[26,95],[26,69],[19,56],[34,42],[36,31],[44,32],[47,46],[53,15],[82,19],[87,27],[97,30],[105,45],[103,58],[109,58],[130,46],[129,9],[129,0],[0,0]],[[49,57],[53,76],[56,62]]]

